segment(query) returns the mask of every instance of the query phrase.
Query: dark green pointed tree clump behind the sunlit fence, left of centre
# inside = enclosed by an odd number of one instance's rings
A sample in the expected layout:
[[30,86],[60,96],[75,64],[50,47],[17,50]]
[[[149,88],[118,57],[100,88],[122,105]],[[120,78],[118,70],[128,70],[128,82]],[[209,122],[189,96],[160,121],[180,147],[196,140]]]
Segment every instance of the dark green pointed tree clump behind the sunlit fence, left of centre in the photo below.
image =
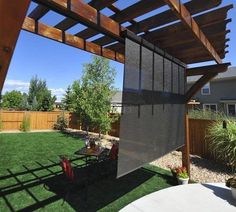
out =
[[52,96],[45,80],[38,79],[37,76],[30,80],[28,103],[32,110],[51,111],[55,101],[56,97]]

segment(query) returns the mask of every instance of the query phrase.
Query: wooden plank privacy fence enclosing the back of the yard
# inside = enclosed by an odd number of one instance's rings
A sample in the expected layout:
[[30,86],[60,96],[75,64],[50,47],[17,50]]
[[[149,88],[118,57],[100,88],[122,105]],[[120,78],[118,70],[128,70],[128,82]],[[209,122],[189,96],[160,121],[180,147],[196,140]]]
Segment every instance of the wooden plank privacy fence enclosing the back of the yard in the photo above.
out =
[[[4,130],[19,130],[25,113],[30,114],[31,130],[52,129],[57,117],[62,112],[24,112],[24,111],[0,111],[0,119]],[[79,116],[75,113],[65,112],[69,120],[69,128],[80,129]],[[205,139],[207,128],[213,121],[201,119],[189,119],[190,153],[204,158],[214,158],[208,148]],[[109,135],[119,137],[120,120],[112,124]],[[95,130],[96,131],[96,130]]]

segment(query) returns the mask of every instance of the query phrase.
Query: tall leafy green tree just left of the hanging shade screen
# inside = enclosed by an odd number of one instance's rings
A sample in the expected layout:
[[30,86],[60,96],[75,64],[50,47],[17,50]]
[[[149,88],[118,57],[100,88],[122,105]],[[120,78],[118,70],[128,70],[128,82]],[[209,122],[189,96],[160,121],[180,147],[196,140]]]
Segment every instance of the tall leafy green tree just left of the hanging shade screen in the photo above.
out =
[[77,110],[81,121],[88,127],[97,127],[99,135],[110,129],[109,116],[111,98],[115,93],[115,69],[109,60],[94,56],[91,63],[84,65],[82,83],[78,92]]

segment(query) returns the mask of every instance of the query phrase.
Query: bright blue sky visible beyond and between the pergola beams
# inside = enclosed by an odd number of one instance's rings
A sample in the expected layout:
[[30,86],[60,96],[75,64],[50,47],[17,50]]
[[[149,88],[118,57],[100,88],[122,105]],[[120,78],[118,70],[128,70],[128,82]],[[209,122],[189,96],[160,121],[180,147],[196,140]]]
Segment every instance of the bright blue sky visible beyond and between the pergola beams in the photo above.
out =
[[[118,1],[117,6],[122,9],[137,1],[138,0]],[[230,3],[232,4],[233,0],[223,1],[223,5]],[[34,7],[35,5],[32,4],[30,10]],[[163,7],[136,20],[147,18],[165,9],[166,7]],[[102,12],[106,15],[112,14],[111,11],[108,10],[103,10]],[[236,49],[236,28],[233,27],[236,24],[236,8],[230,10],[228,17],[232,18],[232,22],[228,24],[231,33],[227,36],[230,38],[230,42],[228,42],[230,47],[228,48],[229,53],[226,55],[224,61],[231,62],[233,66],[236,66],[234,52]],[[50,12],[47,18],[44,18],[42,21],[53,25],[62,20],[62,18],[63,17]],[[71,33],[78,32],[83,28],[85,27],[77,25],[71,29]],[[52,93],[60,100],[67,86],[72,84],[74,80],[80,79],[83,64],[90,62],[91,58],[92,54],[88,52],[21,31],[9,67],[3,93],[13,89],[26,92],[32,76],[38,75],[39,78],[47,81],[47,85],[52,90]],[[111,65],[117,70],[115,86],[121,89],[124,66],[114,61],[111,61]]]

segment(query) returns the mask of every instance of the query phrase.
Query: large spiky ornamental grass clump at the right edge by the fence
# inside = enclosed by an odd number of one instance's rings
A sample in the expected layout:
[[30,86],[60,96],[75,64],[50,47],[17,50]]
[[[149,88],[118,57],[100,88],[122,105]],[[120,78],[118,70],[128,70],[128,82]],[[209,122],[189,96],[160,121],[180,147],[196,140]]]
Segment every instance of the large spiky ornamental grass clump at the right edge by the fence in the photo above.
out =
[[227,119],[226,128],[222,121],[215,121],[208,128],[209,147],[214,156],[236,168],[236,121]]

